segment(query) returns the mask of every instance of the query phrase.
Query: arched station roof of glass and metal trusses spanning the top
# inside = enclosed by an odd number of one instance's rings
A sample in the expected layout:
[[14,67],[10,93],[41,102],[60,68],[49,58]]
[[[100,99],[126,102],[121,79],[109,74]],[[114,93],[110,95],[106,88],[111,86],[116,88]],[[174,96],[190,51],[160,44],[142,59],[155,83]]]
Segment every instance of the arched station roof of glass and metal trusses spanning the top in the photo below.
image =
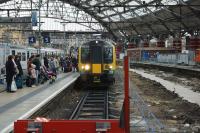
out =
[[[0,17],[38,12],[39,1],[1,0]],[[115,37],[193,32],[200,28],[199,14],[200,0],[41,0],[41,17],[59,22],[56,28],[108,31]]]

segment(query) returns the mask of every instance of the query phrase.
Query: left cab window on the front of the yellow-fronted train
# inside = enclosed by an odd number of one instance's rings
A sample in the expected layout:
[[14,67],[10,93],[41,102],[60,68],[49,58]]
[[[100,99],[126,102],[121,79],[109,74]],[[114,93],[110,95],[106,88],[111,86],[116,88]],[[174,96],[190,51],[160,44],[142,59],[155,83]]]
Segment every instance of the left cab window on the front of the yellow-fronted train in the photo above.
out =
[[81,62],[82,63],[90,62],[90,49],[89,49],[89,47],[81,48]]

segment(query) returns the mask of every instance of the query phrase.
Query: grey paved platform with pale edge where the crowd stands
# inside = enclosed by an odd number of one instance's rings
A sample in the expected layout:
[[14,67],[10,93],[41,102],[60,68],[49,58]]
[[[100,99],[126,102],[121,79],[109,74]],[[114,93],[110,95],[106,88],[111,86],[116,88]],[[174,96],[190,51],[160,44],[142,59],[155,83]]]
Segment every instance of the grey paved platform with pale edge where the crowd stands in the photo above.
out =
[[78,77],[78,73],[62,73],[58,75],[53,84],[47,82],[35,88],[19,89],[15,93],[1,92],[0,133],[12,131],[15,120],[30,117],[35,111],[75,82]]

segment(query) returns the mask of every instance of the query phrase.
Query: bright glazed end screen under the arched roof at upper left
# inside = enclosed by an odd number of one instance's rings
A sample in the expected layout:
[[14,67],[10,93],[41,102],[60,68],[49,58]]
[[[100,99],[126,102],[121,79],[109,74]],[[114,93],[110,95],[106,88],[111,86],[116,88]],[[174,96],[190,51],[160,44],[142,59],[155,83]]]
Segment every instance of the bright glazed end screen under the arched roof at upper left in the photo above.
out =
[[[49,2],[48,2],[49,1]],[[38,16],[38,9],[39,9],[39,1],[38,0],[32,0],[32,9],[35,10],[37,12],[37,16]],[[93,2],[95,2],[95,0],[93,0]],[[31,17],[32,11],[31,9],[31,2],[30,0],[11,0],[9,2],[0,4],[0,8],[4,9],[5,11],[0,11],[0,18],[1,17],[8,17],[8,10],[9,11],[9,17]],[[84,31],[85,29],[90,29],[90,30],[105,30],[104,28],[102,28],[101,24],[97,23],[97,21],[92,18],[90,15],[86,14],[85,12],[70,6],[69,4],[63,3],[61,1],[58,0],[42,0],[42,6],[41,6],[41,17],[42,22],[43,22],[43,26],[42,30],[56,30],[55,26],[57,27],[57,30],[63,30],[63,24],[61,24],[60,22],[60,26],[58,25],[57,19],[61,19],[62,21],[67,21],[71,23],[75,23],[75,22],[82,22],[80,23],[81,26],[79,24],[79,26],[75,26],[76,27],[76,31],[77,30],[81,30]],[[51,18],[51,19],[47,19],[47,18]],[[46,20],[48,21],[46,21]],[[56,21],[55,21],[56,20]],[[52,23],[53,26],[51,26],[48,23]],[[90,23],[90,22],[95,22],[95,23]],[[44,24],[45,23],[45,24]],[[73,23],[73,25],[75,25]],[[44,25],[49,25],[49,27],[44,26]],[[71,25],[71,24],[67,24],[67,25]],[[92,26],[91,26],[92,25]],[[86,28],[83,28],[84,26],[86,26]],[[66,30],[72,30],[74,28],[72,28],[74,26],[69,26],[69,28],[71,29],[67,29]],[[95,27],[95,28],[93,28]],[[79,29],[80,28],[80,29]],[[97,29],[96,29],[97,28]],[[37,27],[35,27],[35,29],[37,29]]]

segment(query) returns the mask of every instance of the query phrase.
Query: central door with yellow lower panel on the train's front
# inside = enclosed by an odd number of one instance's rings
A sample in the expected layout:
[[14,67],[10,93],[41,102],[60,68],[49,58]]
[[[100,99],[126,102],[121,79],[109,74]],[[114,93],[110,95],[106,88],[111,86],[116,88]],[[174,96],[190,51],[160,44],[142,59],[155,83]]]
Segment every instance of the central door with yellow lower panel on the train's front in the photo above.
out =
[[102,72],[102,47],[94,45],[90,47],[92,73],[100,74]]

